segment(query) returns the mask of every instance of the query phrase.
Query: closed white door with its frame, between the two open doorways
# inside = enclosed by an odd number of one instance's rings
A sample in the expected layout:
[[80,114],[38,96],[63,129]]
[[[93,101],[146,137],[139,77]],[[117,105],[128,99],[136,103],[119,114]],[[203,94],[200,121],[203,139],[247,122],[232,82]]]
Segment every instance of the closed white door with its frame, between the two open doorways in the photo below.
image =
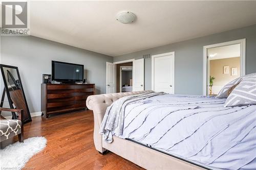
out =
[[152,56],[152,90],[175,93],[174,52]]

